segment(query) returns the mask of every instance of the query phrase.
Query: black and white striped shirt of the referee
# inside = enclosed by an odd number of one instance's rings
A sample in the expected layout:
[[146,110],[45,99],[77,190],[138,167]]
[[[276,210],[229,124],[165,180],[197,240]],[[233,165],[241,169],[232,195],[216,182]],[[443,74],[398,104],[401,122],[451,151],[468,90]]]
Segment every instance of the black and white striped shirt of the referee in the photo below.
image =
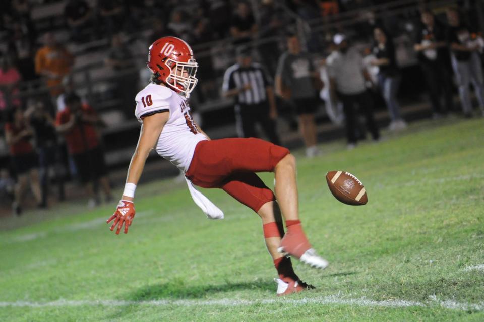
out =
[[253,62],[249,67],[241,67],[238,63],[230,66],[223,76],[222,90],[224,92],[243,88],[251,84],[251,89],[237,95],[238,104],[254,105],[267,101],[266,87],[272,85],[272,79],[260,63]]

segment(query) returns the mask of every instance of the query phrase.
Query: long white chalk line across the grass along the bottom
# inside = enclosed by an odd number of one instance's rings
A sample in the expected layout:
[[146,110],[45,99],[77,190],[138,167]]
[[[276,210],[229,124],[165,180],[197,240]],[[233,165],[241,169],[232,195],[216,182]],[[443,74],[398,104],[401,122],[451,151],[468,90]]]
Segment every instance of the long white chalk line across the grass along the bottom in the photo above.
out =
[[0,302],[0,307],[65,307],[65,306],[132,306],[132,305],[146,305],[146,306],[249,306],[255,304],[340,304],[340,305],[356,305],[356,306],[380,306],[380,307],[435,307],[464,311],[482,311],[484,310],[484,303],[471,304],[460,303],[452,300],[441,301],[435,296],[430,297],[428,302],[406,301],[406,300],[388,300],[388,301],[373,301],[362,298],[343,298],[338,295],[330,295],[316,298],[302,298],[302,299],[260,299],[260,300],[232,300],[232,299],[218,299],[218,300],[152,300],[152,301],[122,301],[122,300],[97,300],[97,301],[70,301],[57,300],[53,302]]

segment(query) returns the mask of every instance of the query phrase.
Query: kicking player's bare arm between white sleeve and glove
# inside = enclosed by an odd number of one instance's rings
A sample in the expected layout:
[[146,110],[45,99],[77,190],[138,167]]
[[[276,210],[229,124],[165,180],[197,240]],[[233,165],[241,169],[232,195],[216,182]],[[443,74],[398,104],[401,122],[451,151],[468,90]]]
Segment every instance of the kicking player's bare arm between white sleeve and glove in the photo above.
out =
[[[146,159],[156,145],[161,130],[163,130],[163,126],[168,121],[169,115],[169,112],[162,112],[150,115],[143,119],[140,139],[138,140],[138,145],[136,146],[135,153],[131,158],[130,167],[128,168],[128,175],[126,178],[127,183],[138,184],[141,173],[143,173],[145,167]],[[133,198],[127,196],[123,196],[123,199],[129,201],[133,200]]]

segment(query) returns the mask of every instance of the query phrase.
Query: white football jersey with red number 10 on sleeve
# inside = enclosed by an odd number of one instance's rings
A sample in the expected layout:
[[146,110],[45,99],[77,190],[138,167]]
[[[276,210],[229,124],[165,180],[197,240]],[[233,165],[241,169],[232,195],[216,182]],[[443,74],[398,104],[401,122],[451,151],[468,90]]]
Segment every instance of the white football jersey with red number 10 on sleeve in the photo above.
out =
[[150,83],[136,95],[135,115],[143,123],[144,117],[161,111],[169,111],[170,116],[158,138],[156,152],[186,172],[195,146],[207,138],[197,130],[184,97],[168,87]]

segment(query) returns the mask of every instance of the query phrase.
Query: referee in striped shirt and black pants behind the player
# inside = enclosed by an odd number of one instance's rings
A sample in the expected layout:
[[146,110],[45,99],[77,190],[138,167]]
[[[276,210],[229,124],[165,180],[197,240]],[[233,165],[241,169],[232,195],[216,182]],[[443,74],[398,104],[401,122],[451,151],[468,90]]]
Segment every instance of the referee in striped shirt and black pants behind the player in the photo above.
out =
[[277,111],[272,80],[262,65],[252,62],[249,48],[237,49],[237,63],[225,71],[222,90],[225,97],[235,96],[239,137],[257,137],[255,125],[259,123],[269,140],[280,145],[276,133]]

